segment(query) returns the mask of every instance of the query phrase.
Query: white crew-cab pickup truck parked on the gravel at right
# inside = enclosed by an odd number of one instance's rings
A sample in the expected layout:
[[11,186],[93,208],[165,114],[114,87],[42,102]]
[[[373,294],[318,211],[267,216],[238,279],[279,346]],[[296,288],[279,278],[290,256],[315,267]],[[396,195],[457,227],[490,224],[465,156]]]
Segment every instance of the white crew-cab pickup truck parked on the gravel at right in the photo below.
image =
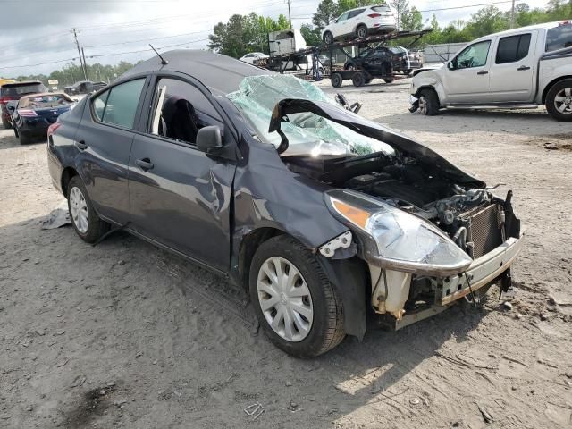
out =
[[535,108],[572,121],[572,21],[478,38],[438,69],[414,72],[411,112]]

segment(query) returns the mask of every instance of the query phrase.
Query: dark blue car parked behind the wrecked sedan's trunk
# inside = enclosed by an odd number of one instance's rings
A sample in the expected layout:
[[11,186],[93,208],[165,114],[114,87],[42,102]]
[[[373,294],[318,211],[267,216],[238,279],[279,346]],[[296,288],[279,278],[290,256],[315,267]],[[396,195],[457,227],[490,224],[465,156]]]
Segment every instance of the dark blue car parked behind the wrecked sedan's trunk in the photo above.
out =
[[18,105],[8,107],[12,111],[14,134],[20,139],[21,145],[33,139],[46,139],[47,128],[74,105],[75,101],[63,93],[21,97]]

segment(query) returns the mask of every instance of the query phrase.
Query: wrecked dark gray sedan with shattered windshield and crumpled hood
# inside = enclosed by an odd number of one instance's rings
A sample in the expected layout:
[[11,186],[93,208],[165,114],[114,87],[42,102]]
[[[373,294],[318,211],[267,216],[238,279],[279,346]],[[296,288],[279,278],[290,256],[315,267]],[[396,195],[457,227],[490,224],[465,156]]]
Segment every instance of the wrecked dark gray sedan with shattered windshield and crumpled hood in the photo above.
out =
[[[344,101],[343,97],[339,97]],[[81,239],[124,230],[245,287],[279,348],[315,357],[510,284],[511,193],[314,85],[172,51],[50,127]]]

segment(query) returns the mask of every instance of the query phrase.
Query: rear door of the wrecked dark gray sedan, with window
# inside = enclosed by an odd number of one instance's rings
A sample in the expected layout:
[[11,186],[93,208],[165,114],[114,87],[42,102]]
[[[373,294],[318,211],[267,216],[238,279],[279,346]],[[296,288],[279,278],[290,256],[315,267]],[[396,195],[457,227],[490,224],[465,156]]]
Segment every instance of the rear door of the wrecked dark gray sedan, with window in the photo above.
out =
[[128,164],[145,84],[145,78],[130,80],[88,100],[74,142],[97,213],[122,225],[130,218]]

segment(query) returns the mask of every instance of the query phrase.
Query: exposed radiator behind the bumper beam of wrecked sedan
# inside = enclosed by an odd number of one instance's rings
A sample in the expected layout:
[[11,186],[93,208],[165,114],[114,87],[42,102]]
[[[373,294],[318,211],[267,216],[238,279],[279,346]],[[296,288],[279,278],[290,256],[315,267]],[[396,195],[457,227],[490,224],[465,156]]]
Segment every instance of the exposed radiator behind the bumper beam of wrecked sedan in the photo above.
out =
[[498,205],[477,207],[463,215],[467,222],[467,241],[472,241],[473,255],[482,257],[502,244],[501,210]]

